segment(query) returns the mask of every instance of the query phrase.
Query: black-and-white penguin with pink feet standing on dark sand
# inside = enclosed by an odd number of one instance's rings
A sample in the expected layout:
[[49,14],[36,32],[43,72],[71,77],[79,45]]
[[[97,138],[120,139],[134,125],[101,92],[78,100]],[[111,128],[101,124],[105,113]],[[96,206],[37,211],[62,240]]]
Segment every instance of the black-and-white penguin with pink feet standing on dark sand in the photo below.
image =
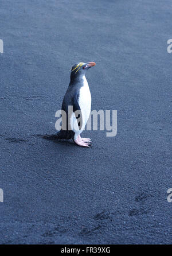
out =
[[[78,146],[91,146],[90,138],[81,138],[80,134],[88,121],[91,112],[91,92],[85,74],[95,66],[95,62],[76,63],[71,69],[71,81],[62,101],[61,110],[65,111],[66,118],[62,117],[61,130],[56,134],[45,135],[45,139],[73,139]],[[69,111],[69,106],[72,111]],[[65,125],[64,125],[65,124]],[[65,127],[65,129],[63,128]]]

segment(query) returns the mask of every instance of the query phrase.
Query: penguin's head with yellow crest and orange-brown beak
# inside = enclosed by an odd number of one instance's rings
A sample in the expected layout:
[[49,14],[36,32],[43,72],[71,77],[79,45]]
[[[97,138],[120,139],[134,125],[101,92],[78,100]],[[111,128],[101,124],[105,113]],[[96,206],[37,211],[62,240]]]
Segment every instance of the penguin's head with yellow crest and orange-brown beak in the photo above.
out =
[[71,78],[77,77],[77,76],[84,76],[87,70],[95,65],[96,65],[95,62],[76,63],[75,65],[73,65],[71,69]]

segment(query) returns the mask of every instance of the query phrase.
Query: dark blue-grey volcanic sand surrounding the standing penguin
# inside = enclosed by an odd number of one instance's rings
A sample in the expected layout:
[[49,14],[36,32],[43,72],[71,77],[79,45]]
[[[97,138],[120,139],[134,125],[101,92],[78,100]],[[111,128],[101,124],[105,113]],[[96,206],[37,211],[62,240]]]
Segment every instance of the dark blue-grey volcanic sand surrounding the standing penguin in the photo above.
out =
[[[171,1],[3,1],[1,243],[171,243]],[[118,134],[54,142],[78,61]]]

